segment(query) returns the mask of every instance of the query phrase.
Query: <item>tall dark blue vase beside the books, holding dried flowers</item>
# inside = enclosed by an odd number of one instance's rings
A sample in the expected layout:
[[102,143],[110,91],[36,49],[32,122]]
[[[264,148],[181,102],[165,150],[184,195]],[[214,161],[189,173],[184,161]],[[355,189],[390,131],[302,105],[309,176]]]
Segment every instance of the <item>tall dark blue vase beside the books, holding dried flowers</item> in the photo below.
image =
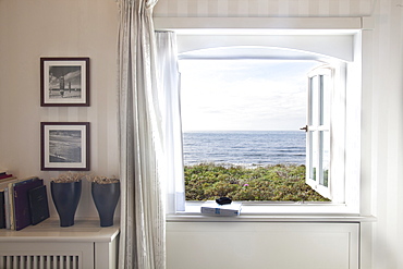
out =
[[75,211],[82,195],[82,182],[50,182],[53,204],[60,219],[60,227],[74,225]]

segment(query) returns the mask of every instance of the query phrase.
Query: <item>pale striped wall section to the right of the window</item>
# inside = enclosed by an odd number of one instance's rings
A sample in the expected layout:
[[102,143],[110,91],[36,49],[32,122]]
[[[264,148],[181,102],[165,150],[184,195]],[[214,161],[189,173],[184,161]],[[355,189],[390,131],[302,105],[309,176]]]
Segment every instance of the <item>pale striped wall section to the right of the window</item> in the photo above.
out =
[[374,42],[373,160],[374,179],[373,268],[403,268],[402,1],[380,1],[376,8]]

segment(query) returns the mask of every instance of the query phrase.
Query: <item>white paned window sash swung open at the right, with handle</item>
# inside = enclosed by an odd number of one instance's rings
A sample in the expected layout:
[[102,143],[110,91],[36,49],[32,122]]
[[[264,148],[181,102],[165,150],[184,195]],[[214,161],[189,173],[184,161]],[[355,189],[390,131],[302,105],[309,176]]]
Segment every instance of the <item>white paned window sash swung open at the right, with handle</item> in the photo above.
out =
[[[308,74],[307,87],[307,124],[306,131],[306,183],[322,196],[333,203],[344,203],[344,155],[340,149],[345,148],[345,68],[344,64],[319,66]],[[328,85],[322,84],[322,78],[328,77]],[[314,84],[314,81],[317,81]],[[317,86],[317,89],[314,89]],[[326,86],[326,88],[325,88]],[[313,90],[317,90],[318,98],[314,99]],[[328,91],[323,103],[323,91]],[[323,115],[323,106],[328,106],[328,111]],[[317,113],[314,113],[314,109]],[[314,115],[318,119],[313,119]],[[325,119],[327,118],[327,119]],[[329,133],[329,139],[325,142],[323,134]],[[318,133],[319,136],[314,136]],[[314,139],[314,137],[317,137]],[[327,184],[322,179],[323,173],[317,173],[317,169],[322,171],[323,166],[323,143],[328,143],[328,158],[331,160],[327,167]],[[317,151],[313,151],[316,146]],[[342,151],[342,150],[341,150]],[[316,155],[316,156],[314,156]],[[315,158],[316,157],[316,158]],[[317,163],[314,163],[316,160]],[[316,174],[314,174],[316,173]]]

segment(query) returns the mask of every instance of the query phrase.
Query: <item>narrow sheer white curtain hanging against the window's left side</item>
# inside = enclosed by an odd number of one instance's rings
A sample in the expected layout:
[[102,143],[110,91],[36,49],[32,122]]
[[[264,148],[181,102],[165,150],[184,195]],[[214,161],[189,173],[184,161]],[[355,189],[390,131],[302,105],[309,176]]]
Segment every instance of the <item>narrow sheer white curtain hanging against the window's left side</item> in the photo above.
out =
[[161,82],[164,152],[167,176],[167,212],[185,210],[183,175],[182,124],[180,110],[180,73],[178,68],[176,36],[173,32],[156,32],[158,80]]

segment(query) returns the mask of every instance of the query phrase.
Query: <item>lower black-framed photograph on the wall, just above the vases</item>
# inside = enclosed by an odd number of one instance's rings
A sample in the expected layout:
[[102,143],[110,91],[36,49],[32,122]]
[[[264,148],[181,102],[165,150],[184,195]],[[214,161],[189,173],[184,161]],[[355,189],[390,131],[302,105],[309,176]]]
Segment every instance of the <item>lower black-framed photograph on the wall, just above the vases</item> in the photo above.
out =
[[89,170],[89,122],[41,122],[40,169]]

